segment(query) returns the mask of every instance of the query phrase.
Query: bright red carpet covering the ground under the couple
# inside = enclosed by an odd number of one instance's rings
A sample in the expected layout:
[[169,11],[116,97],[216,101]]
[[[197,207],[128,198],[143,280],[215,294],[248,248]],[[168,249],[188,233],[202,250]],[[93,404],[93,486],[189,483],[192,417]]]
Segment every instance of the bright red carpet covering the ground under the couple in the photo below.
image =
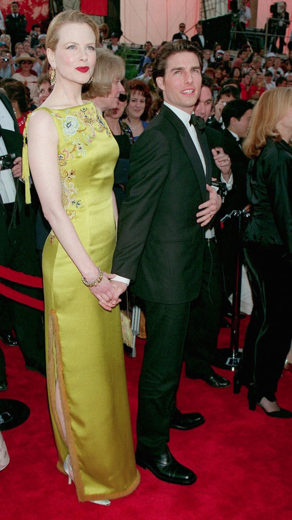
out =
[[[242,322],[242,335],[247,320]],[[228,346],[223,329],[220,346]],[[0,398],[19,399],[31,409],[28,421],[3,432],[10,464],[0,473],[3,520],[288,520],[291,509],[292,420],[271,419],[248,410],[246,388],[215,389],[186,379],[178,393],[182,411],[200,411],[206,423],[196,430],[171,431],[170,449],[197,474],[192,486],[169,485],[149,471],[129,497],[104,507],[79,503],[75,488],[55,467],[54,438],[47,407],[46,381],[26,370],[18,347],[3,347],[9,388]],[[132,424],[143,342],[137,358],[126,358]],[[232,379],[232,373],[218,370]],[[278,387],[278,401],[291,409],[292,374]],[[135,439],[136,442],[136,439]]]

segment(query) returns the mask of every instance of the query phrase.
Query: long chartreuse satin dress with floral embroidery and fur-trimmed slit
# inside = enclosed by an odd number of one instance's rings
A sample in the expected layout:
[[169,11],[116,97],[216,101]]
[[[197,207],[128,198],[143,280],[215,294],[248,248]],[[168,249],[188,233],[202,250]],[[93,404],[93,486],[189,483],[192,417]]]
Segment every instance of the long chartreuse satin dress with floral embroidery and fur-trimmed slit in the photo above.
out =
[[[113,171],[118,146],[93,103],[46,110],[58,135],[62,205],[92,261],[111,272],[115,248]],[[43,253],[49,406],[58,469],[70,453],[78,499],[129,495],[138,486],[120,309],[110,313],[51,231]],[[55,403],[60,382],[67,444]]]

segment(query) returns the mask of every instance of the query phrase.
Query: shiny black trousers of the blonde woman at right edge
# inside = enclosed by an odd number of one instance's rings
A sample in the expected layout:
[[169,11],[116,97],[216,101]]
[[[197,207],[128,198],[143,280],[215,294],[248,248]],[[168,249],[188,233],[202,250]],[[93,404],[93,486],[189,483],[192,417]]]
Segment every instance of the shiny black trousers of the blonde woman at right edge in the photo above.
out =
[[244,250],[254,307],[246,330],[240,374],[258,399],[276,399],[292,337],[292,265],[283,251],[251,245]]

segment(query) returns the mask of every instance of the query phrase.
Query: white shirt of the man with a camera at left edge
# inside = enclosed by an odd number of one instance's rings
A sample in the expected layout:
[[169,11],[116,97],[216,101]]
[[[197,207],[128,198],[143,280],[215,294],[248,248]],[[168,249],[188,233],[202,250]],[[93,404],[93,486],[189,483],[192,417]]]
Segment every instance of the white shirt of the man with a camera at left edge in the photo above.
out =
[[[14,121],[1,100],[0,124],[4,130],[11,130],[12,132],[14,132]],[[0,155],[6,154],[7,150],[3,137],[0,137]],[[16,189],[11,170],[1,170],[0,172],[0,195],[4,204],[8,204],[9,202],[15,202]]]

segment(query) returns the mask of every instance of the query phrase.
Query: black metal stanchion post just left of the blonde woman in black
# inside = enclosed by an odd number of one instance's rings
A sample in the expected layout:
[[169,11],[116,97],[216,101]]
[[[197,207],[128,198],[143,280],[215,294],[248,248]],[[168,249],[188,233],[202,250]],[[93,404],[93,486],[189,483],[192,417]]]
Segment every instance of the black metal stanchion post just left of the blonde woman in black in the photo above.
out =
[[[238,350],[239,346],[239,332],[240,332],[240,302],[241,302],[241,279],[242,279],[242,265],[243,265],[243,251],[242,251],[242,231],[243,221],[248,218],[250,213],[246,210],[233,210],[229,215],[225,215],[221,222],[223,223],[228,218],[237,219],[236,226],[236,261],[234,268],[234,285],[232,295],[232,319],[231,319],[231,335],[230,347],[219,348],[217,350],[217,360],[215,366],[225,370],[234,371],[241,359],[241,353]],[[234,226],[235,228],[235,226]]]

